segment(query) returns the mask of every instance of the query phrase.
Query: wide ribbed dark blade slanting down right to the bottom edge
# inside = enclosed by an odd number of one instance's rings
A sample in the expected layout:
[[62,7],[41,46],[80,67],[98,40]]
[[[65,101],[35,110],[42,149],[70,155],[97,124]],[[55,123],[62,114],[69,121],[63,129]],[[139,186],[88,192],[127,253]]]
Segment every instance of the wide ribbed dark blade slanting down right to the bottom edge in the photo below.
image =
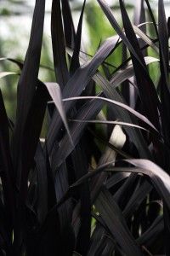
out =
[[102,189],[94,204],[97,207],[101,218],[103,218],[110,230],[111,235],[122,247],[122,250],[129,256],[142,255],[137,242],[133,239],[133,236],[127,229],[120,208],[116,205],[111,194],[106,189]]

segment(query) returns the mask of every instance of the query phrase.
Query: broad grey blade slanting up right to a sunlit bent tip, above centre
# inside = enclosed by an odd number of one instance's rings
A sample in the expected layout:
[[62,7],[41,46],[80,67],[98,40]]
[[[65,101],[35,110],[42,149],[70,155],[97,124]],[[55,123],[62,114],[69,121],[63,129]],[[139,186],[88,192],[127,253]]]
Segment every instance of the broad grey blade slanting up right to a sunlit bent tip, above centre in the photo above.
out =
[[[82,90],[86,88],[94,73],[96,72],[99,65],[105,60],[105,58],[110,55],[111,50],[114,49],[114,46],[117,42],[116,38],[109,38],[105,41],[104,44],[101,45],[97,53],[94,55],[93,59],[88,62],[83,67],[77,69],[76,73],[71,77],[68,83],[65,85],[65,89],[63,90],[63,97],[67,96],[80,96]],[[74,102],[69,102],[65,104],[65,112],[73,107]],[[60,120],[58,118],[58,113],[54,113],[54,117],[52,119],[51,125],[48,130],[48,151],[51,152],[55,139],[57,137],[57,133],[59,131]]]

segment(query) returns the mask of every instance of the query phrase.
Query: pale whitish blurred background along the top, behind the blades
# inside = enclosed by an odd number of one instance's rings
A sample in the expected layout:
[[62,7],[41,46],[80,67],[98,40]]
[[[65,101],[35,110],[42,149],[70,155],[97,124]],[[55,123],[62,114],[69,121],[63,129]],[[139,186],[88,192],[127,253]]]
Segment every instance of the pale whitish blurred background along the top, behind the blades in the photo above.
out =
[[[116,0],[106,0],[106,3],[109,3],[113,8],[118,6],[118,1]],[[134,0],[128,0],[127,2],[129,12],[132,11],[133,3],[136,3]],[[138,2],[138,1],[137,1]],[[73,14],[73,20],[75,26],[80,15],[80,10],[82,8],[82,0],[72,0],[71,9]],[[170,15],[170,1],[165,0],[166,4],[166,14]],[[28,37],[31,30],[31,18],[33,13],[33,7],[35,0],[0,0],[0,41],[5,42],[2,44],[0,54],[8,55],[10,57],[23,57],[26,54],[26,45],[28,44]],[[87,7],[98,6],[97,1],[87,0]],[[150,5],[153,9],[157,7],[157,0],[150,1]],[[86,10],[88,10],[88,8]],[[46,1],[46,16],[44,23],[44,35],[46,40],[50,41],[50,9],[51,1]],[[93,11],[91,10],[93,15]],[[120,20],[121,15],[115,12],[116,18]],[[99,20],[101,22],[101,20]],[[83,42],[88,44],[88,27],[86,23],[86,14],[83,22],[83,32],[82,32]],[[11,45],[12,43],[12,45]],[[48,44],[48,43],[47,43]],[[2,52],[3,51],[3,52]]]

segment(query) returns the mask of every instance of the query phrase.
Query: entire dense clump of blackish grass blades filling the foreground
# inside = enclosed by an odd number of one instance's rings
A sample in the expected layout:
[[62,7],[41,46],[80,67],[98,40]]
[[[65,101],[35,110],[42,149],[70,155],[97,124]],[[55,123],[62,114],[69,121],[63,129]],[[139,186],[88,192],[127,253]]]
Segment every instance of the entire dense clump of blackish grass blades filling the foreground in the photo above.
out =
[[170,22],[163,0],[158,20],[139,1],[135,25],[120,0],[123,29],[96,2],[113,36],[92,57],[81,44],[86,1],[75,32],[69,1],[53,0],[56,81],[38,79],[45,0],[25,61],[1,58],[20,78],[14,122],[0,93],[0,255],[170,255]]

